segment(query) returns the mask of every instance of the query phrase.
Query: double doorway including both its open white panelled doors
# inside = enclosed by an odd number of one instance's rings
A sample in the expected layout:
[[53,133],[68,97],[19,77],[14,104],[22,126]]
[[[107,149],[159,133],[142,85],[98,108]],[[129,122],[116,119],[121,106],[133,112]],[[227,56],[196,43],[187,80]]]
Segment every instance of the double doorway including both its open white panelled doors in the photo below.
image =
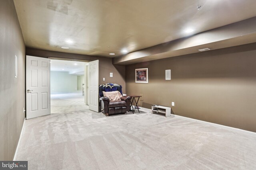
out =
[[[50,61],[50,59],[52,59],[52,61]],[[58,67],[56,67],[55,70],[54,63],[52,67],[51,63],[56,60],[62,61],[62,64],[58,64]],[[75,63],[68,64],[64,63],[64,61],[71,61]],[[78,66],[78,62],[82,62],[82,68],[76,67]],[[75,68],[73,70],[69,70],[71,67]],[[76,79],[63,82],[60,74],[57,74],[55,78],[52,76],[53,74],[51,75],[51,69],[52,71],[66,72],[67,75],[74,74],[76,75]],[[84,80],[81,77],[78,78],[79,81],[77,81],[77,76],[82,76],[83,73]],[[51,87],[51,76],[52,82],[56,83],[56,86],[52,85]],[[99,112],[98,78],[98,60],[74,61],[72,59],[60,59],[53,57],[49,57],[47,59],[26,55],[26,119],[50,115],[51,113],[65,113],[79,110],[84,111],[85,109]],[[75,86],[70,86],[73,82],[76,82]],[[79,84],[82,83],[83,86],[83,82],[84,88],[82,89],[84,89],[84,92],[79,91],[81,89],[81,85]],[[82,96],[83,94],[84,96]]]

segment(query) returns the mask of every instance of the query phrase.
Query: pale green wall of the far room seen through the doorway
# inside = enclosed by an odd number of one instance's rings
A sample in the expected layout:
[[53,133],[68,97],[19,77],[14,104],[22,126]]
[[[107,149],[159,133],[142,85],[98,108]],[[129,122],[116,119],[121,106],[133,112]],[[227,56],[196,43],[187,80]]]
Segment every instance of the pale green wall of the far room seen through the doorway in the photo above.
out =
[[51,93],[77,92],[77,75],[51,71]]

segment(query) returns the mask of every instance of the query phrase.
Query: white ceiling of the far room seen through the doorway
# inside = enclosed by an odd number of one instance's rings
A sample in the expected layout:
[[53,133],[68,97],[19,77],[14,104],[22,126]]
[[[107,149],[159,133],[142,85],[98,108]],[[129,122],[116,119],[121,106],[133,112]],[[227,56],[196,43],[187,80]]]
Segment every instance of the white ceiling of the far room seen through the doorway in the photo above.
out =
[[66,60],[52,60],[51,59],[51,71],[63,71],[69,72],[69,74],[84,74],[84,62],[78,61],[66,61]]

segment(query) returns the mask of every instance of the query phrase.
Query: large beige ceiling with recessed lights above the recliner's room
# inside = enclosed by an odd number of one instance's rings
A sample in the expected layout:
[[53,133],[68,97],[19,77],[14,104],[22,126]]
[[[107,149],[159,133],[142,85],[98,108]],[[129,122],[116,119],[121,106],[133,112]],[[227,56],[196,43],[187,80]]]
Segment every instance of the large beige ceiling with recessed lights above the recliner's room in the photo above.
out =
[[[14,0],[14,3],[26,47],[103,57],[118,57],[256,16],[255,0]],[[186,29],[194,31],[186,33]]]

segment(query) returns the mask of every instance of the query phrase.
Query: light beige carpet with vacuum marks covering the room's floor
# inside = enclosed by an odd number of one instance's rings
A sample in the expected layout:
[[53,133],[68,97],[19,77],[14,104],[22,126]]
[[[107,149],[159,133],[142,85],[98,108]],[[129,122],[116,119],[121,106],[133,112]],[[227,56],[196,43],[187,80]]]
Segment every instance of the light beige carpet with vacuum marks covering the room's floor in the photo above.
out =
[[255,134],[146,109],[106,117],[67,103],[71,111],[26,120],[16,160],[30,170],[256,169]]

